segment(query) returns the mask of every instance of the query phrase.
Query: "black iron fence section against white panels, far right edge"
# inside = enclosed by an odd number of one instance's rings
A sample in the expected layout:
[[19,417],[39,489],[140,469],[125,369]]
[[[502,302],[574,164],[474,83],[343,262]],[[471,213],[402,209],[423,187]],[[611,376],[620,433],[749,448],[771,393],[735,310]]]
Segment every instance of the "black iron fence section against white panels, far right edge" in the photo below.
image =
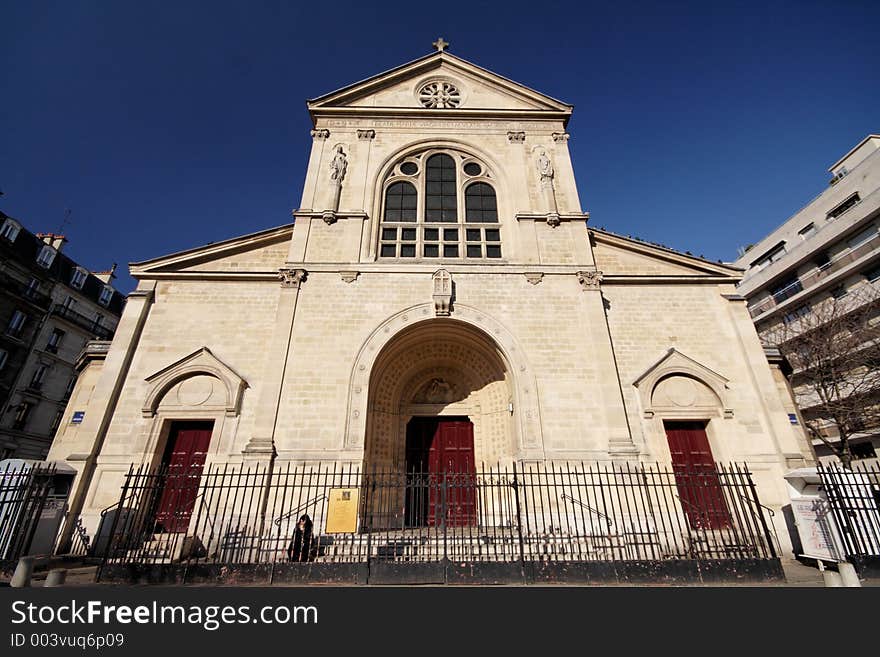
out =
[[880,559],[880,466],[817,469],[846,557]]

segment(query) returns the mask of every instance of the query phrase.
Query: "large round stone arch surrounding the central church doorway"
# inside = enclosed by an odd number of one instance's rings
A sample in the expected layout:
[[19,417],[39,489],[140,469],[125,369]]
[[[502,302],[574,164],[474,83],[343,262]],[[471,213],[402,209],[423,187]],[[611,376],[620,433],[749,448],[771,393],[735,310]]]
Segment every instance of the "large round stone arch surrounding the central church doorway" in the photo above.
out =
[[385,321],[361,348],[352,372],[345,447],[365,462],[396,466],[413,416],[468,416],[476,458],[543,458],[535,379],[498,322],[459,304],[454,318],[433,304]]

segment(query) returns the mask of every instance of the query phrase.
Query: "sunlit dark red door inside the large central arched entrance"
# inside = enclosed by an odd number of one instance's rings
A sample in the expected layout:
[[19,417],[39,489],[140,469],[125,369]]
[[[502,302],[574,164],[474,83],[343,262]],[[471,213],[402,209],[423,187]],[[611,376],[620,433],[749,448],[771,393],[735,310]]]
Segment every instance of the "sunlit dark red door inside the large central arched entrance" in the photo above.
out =
[[474,464],[474,425],[467,419],[439,420],[428,450],[431,486],[428,524],[443,519],[443,496],[447,527],[476,523],[476,468]]

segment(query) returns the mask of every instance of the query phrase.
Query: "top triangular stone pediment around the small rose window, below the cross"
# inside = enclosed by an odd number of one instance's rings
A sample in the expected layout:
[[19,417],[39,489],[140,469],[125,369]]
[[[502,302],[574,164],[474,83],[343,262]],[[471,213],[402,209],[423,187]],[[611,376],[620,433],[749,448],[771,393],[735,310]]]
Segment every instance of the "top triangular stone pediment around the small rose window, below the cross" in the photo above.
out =
[[[419,90],[434,80],[458,88],[456,109],[571,113],[571,106],[447,52],[437,52],[309,101],[309,110],[426,109]],[[450,110],[447,110],[450,111]]]

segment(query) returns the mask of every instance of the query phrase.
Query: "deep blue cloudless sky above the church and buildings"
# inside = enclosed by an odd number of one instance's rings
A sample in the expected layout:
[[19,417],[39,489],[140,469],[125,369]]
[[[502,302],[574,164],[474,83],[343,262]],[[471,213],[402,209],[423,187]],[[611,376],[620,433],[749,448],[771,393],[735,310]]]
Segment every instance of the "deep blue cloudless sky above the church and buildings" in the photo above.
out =
[[[591,223],[732,260],[880,132],[880,3],[0,0],[0,209],[94,270],[278,226],[305,100],[459,57],[572,103]],[[120,289],[134,281],[122,275]]]

